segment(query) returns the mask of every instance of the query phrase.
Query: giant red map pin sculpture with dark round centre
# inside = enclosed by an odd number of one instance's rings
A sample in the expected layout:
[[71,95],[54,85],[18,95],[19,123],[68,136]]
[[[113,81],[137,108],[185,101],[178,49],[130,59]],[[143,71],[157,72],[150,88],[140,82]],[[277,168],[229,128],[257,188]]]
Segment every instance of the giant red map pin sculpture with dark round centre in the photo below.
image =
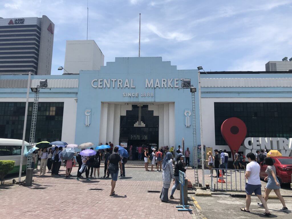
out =
[[238,152],[239,147],[246,136],[246,125],[241,119],[231,117],[222,123],[221,134],[234,157],[233,150]]

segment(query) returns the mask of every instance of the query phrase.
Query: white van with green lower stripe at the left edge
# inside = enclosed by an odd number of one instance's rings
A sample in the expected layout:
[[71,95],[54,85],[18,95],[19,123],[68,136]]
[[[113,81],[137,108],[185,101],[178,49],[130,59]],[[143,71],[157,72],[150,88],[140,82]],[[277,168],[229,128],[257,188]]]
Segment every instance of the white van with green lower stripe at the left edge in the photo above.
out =
[[[27,153],[28,142],[24,142],[24,155]],[[9,173],[19,173],[22,140],[0,138],[0,160],[14,160],[15,165]],[[26,171],[27,157],[23,156],[22,171]]]

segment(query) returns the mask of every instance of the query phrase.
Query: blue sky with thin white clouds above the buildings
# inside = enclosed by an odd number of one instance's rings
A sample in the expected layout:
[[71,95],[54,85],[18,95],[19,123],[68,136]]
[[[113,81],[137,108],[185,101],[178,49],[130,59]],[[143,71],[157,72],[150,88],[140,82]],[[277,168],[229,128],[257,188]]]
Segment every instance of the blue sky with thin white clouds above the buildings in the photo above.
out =
[[[161,56],[177,69],[264,71],[292,57],[292,0],[88,0],[88,39],[106,62]],[[0,0],[0,17],[55,24],[51,74],[62,74],[66,40],[86,40],[87,0]]]

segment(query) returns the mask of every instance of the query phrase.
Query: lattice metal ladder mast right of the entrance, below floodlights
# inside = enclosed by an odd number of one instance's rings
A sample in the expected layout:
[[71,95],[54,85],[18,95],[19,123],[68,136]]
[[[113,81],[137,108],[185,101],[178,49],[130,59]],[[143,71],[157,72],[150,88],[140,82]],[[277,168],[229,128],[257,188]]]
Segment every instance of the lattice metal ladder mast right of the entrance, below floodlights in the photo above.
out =
[[192,93],[192,117],[193,117],[193,137],[194,137],[193,164],[194,164],[194,173],[195,173],[195,183],[199,186],[195,93]]

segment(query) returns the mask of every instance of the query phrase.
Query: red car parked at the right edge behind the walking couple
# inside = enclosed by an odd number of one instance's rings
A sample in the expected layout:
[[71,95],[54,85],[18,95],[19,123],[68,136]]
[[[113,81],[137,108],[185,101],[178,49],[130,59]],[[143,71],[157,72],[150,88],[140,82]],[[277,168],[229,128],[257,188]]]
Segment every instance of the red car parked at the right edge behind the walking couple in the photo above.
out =
[[[292,157],[271,157],[274,161],[274,166],[277,171],[277,178],[279,183],[291,183],[292,173]],[[267,165],[265,161],[260,163],[260,178],[264,179],[266,174]]]

